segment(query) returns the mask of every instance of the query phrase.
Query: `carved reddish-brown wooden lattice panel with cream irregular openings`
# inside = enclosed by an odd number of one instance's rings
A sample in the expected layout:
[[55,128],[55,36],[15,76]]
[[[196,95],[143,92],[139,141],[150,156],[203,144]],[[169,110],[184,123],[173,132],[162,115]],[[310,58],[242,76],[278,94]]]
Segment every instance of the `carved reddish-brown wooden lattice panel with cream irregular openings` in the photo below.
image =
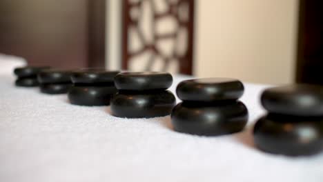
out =
[[194,0],[124,0],[122,68],[192,74]]

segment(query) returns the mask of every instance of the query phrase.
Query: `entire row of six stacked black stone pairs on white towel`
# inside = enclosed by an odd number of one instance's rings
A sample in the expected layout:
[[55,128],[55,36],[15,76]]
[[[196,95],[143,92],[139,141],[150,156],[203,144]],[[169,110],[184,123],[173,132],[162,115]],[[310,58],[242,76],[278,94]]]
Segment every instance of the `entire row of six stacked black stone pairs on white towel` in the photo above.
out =
[[[17,86],[41,83],[41,92],[48,94],[69,90],[72,104],[109,105],[112,98],[112,114],[117,117],[148,118],[170,114],[175,105],[175,97],[166,90],[173,82],[170,74],[118,73],[97,69],[70,72],[48,70],[48,67],[14,70]],[[237,101],[243,92],[242,83],[235,79],[195,79],[179,83],[177,95],[183,102],[176,105],[171,114],[175,130],[206,136],[243,130],[248,111]],[[323,149],[322,93],[323,88],[315,85],[265,90],[261,101],[269,113],[255,124],[255,145],[265,152],[293,156],[320,152]]]

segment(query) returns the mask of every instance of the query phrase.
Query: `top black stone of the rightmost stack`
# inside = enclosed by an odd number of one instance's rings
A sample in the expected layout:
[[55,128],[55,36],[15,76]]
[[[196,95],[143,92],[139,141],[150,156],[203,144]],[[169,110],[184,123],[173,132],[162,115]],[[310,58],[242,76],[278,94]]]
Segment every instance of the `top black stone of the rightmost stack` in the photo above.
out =
[[295,116],[323,116],[323,87],[287,85],[264,90],[262,105],[268,112]]

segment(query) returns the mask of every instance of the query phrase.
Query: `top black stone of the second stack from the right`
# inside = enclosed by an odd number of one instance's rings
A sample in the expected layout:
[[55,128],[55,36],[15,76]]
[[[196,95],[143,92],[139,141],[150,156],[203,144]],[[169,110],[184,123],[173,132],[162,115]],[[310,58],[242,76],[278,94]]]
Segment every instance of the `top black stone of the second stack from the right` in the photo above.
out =
[[237,79],[191,79],[179,83],[176,93],[183,101],[237,100],[244,94],[244,85]]

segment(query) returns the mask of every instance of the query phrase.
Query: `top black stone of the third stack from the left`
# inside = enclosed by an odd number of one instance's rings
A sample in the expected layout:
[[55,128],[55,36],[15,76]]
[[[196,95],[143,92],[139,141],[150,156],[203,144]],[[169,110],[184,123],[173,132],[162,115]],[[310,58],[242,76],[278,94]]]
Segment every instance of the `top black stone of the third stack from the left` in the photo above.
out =
[[113,83],[119,71],[89,68],[72,73],[73,83]]

